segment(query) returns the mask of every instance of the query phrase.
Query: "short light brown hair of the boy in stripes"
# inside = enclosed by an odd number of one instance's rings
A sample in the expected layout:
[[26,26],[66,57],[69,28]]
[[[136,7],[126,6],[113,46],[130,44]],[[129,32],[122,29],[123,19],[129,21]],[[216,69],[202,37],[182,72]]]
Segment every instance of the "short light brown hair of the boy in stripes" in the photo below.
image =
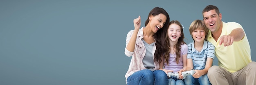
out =
[[[204,38],[204,40],[206,40],[206,36],[208,35],[209,30],[208,30],[208,28],[204,25],[204,21],[202,21],[202,20],[194,20],[194,21],[190,24],[190,26],[189,26],[189,33],[190,33],[192,39],[193,39],[192,33],[193,33],[193,31],[195,31],[196,29],[202,29],[202,30],[204,30],[204,32],[205,32],[205,38]],[[193,39],[193,40],[194,40],[194,39]]]

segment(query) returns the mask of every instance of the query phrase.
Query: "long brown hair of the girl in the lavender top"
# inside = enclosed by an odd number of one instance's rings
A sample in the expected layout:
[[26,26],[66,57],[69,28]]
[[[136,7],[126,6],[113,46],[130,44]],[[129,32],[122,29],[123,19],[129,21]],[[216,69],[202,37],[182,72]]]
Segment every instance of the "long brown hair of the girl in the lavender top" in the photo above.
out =
[[[175,60],[176,60],[176,63],[179,63],[179,59],[181,58],[181,57],[180,57],[181,45],[182,45],[182,44],[186,44],[186,43],[184,42],[184,38],[185,38],[185,37],[184,37],[184,33],[183,33],[183,26],[182,26],[182,24],[180,24],[180,22],[177,21],[177,20],[172,20],[172,21],[169,23],[169,26],[170,26],[171,24],[177,24],[178,26],[180,26],[181,36],[179,37],[177,44],[174,45],[174,48],[176,49],[176,50],[175,50],[175,54],[176,54]],[[167,31],[167,30],[166,30],[166,31]],[[164,54],[164,60],[165,60],[164,62],[166,62],[167,65],[168,65],[168,60],[169,60],[170,52],[171,52],[170,39],[169,39],[169,37],[168,37],[168,33],[165,34],[165,39],[166,39],[167,50],[166,50],[166,52],[165,52],[165,54]]]

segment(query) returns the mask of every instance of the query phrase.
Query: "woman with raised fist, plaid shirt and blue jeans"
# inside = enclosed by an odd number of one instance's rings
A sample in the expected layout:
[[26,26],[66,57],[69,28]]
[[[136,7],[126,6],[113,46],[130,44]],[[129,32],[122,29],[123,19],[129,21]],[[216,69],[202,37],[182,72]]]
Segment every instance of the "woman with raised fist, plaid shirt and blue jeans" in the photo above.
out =
[[129,69],[125,75],[127,85],[166,85],[167,76],[159,70],[156,59],[164,54],[163,32],[168,28],[168,13],[159,7],[152,9],[141,29],[140,16],[133,20],[134,30],[126,37],[126,56],[132,56]]

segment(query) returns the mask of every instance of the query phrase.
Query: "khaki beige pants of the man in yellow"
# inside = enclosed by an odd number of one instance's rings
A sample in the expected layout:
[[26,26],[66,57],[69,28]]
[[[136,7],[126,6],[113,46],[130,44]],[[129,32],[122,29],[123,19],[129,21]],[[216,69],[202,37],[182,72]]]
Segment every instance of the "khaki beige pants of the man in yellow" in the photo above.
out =
[[256,85],[256,62],[250,62],[234,73],[214,65],[209,68],[207,76],[212,85]]

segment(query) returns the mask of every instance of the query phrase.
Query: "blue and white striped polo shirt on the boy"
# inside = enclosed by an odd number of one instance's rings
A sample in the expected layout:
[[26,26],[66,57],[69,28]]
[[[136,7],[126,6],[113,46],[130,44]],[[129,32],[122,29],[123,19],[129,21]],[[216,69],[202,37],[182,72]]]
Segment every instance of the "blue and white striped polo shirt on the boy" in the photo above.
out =
[[204,40],[203,49],[199,52],[194,47],[194,41],[188,44],[188,56],[187,59],[192,59],[193,69],[202,70],[205,68],[207,58],[214,59],[215,47],[209,41]]

